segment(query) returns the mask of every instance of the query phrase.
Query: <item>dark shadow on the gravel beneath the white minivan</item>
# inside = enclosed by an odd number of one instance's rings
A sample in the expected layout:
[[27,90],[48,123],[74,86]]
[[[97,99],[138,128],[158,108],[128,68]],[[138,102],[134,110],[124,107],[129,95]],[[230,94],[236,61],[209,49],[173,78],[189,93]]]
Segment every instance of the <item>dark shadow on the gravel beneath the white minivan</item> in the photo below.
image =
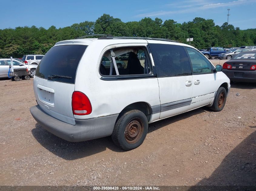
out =
[[[205,111],[199,108],[168,119],[163,119],[159,122],[151,123],[149,124],[148,133],[202,112]],[[84,158],[105,151],[107,148],[114,152],[125,152],[112,142],[111,136],[84,142],[68,142],[43,129],[38,123],[36,123],[35,128],[32,129],[31,132],[44,148],[65,160]]]

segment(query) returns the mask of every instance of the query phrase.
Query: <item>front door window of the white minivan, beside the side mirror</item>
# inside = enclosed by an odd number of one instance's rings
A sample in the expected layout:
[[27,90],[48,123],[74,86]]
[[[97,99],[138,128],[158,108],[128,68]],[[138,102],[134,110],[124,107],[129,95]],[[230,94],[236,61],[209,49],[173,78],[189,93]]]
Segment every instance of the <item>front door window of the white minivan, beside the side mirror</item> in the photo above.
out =
[[212,72],[211,63],[204,55],[197,50],[186,47],[191,60],[193,73],[208,73]]

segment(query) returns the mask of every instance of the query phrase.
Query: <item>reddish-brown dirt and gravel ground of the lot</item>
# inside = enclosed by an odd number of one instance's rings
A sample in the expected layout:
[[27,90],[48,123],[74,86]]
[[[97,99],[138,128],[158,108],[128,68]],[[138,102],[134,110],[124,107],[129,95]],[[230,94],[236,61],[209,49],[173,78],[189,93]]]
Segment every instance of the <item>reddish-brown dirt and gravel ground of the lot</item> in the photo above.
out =
[[123,151],[111,137],[71,143],[44,130],[29,112],[32,83],[0,80],[0,185],[256,185],[256,84],[231,84],[221,112],[151,123]]

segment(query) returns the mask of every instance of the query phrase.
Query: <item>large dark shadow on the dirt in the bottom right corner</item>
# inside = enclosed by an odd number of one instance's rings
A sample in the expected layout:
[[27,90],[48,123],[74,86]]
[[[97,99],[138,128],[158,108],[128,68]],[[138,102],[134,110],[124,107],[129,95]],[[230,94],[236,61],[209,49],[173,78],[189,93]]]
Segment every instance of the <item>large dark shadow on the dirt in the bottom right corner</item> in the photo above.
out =
[[255,157],[256,131],[235,147],[209,178],[204,178],[196,186],[256,186]]

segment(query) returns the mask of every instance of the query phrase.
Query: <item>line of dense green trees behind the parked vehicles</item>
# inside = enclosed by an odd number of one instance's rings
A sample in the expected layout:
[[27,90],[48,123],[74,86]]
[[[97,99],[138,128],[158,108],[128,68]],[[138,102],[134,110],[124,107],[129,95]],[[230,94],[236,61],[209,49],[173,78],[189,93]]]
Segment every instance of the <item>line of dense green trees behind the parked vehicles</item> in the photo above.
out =
[[43,27],[16,27],[0,30],[0,57],[14,58],[25,54],[45,54],[61,40],[75,39],[89,34],[111,34],[126,37],[168,38],[198,48],[211,46],[239,47],[256,45],[256,29],[240,30],[225,22],[215,25],[212,19],[194,18],[193,21],[177,23],[173,19],[143,18],[140,21],[122,22],[109,14],[103,14],[95,22],[85,21],[69,27],[48,29]]

